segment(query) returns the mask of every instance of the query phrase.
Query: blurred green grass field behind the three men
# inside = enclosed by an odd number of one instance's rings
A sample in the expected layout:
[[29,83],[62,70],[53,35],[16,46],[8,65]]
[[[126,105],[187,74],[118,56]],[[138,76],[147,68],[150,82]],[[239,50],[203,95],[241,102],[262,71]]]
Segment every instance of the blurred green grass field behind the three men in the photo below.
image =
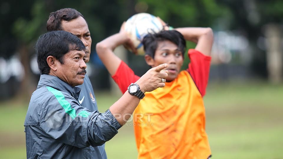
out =
[[[96,93],[96,98],[103,112],[119,97]],[[204,101],[213,159],[283,158],[283,85],[209,84]],[[26,158],[27,105],[0,102],[0,158]],[[136,158],[133,127],[122,127],[106,152],[109,159]]]

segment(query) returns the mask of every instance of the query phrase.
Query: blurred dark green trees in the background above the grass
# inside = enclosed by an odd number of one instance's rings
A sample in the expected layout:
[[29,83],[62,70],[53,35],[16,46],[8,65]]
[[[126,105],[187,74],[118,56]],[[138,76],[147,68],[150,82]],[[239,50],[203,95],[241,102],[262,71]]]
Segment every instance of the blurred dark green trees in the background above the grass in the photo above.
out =
[[[215,32],[215,44],[218,41],[219,44],[223,44],[225,40],[227,40],[223,39],[223,36],[221,36],[222,33],[225,33],[226,37],[227,34],[232,38],[233,36],[243,37],[242,39],[246,41],[245,45],[247,46],[240,51],[237,50],[237,47],[236,49],[234,47],[234,50],[228,50],[228,52],[230,52],[226,54],[228,57],[223,56],[228,58],[228,62],[224,62],[224,65],[240,63],[245,66],[242,69],[249,70],[244,76],[259,77],[262,80],[266,80],[268,70],[266,64],[266,47],[264,46],[263,38],[265,26],[267,24],[279,25],[282,32],[283,2],[280,0],[11,0],[2,1],[0,5],[2,21],[0,26],[0,57],[4,60],[9,60],[11,57],[16,56],[24,69],[20,80],[15,81],[16,83],[18,82],[20,87],[11,89],[9,91],[10,93],[8,93],[9,97],[22,95],[23,91],[30,93],[34,90],[32,84],[39,79],[39,75],[38,73],[34,73],[31,68],[31,60],[32,57],[34,57],[33,46],[39,35],[46,32],[46,21],[49,13],[61,8],[75,8],[80,11],[88,21],[93,41],[91,54],[93,60],[91,59],[90,64],[93,63],[94,65],[97,65],[97,56],[95,53],[95,45],[97,42],[118,32],[122,22],[126,21],[131,15],[139,12],[148,12],[161,17],[173,27],[211,27]],[[218,33],[221,35],[218,36]],[[237,43],[230,40],[228,45],[237,45]],[[195,44],[191,42],[187,44],[187,48],[193,48],[194,46]],[[215,46],[214,48],[218,48],[218,45]],[[220,51],[218,49],[215,52],[219,53]],[[227,50],[224,50],[224,53],[225,52],[227,52]],[[238,52],[242,53],[239,54]],[[241,58],[239,56],[244,57]],[[142,75],[145,72],[143,68],[147,68],[144,60],[142,60],[143,57],[135,57],[129,53],[128,58],[129,65],[133,67],[138,75]],[[132,60],[133,58],[136,60]],[[245,59],[248,62],[243,64]],[[183,69],[185,69],[188,62],[189,59],[186,58]],[[98,64],[100,64],[99,60]],[[221,64],[223,65],[223,62],[216,62],[218,66]],[[3,64],[1,66],[1,69],[4,69],[6,65]],[[105,68],[102,66],[98,66],[97,68],[99,68],[99,70],[95,70],[101,73],[94,75],[95,77],[90,77],[98,79],[97,81],[102,81],[102,83],[95,82],[94,88],[109,89],[109,80],[102,80],[108,78],[108,74],[105,73]],[[219,72],[221,68],[218,68],[216,72]],[[229,72],[232,71],[233,70]],[[215,71],[212,70],[211,80],[214,79],[213,77],[219,75],[214,75],[217,74],[214,72]],[[8,78],[5,76],[7,76],[5,73],[0,74],[0,77]],[[10,80],[13,80],[13,75],[9,77],[11,77],[9,78]],[[217,78],[217,80],[219,79],[221,80],[223,78]],[[9,82],[7,80],[4,81],[5,82],[1,82],[0,85],[5,85],[6,82]],[[106,82],[103,83],[103,81]],[[6,95],[0,97],[0,99],[6,98]]]

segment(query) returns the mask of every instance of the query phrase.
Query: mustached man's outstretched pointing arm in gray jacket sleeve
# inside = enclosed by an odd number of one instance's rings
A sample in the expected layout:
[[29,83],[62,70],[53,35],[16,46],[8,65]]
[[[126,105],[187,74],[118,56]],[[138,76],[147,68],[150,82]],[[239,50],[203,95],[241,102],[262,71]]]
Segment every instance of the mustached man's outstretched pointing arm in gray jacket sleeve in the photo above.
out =
[[[140,90],[150,92],[164,87],[165,83],[161,81],[167,78],[168,71],[162,69],[166,67],[167,64],[161,64],[149,69],[136,81]],[[129,120],[140,101],[138,97],[125,92],[105,113],[91,112],[81,107],[68,93],[52,87],[46,89],[48,92],[44,94],[46,98],[39,113],[40,127],[50,137],[78,148],[102,145],[113,138],[117,130]]]

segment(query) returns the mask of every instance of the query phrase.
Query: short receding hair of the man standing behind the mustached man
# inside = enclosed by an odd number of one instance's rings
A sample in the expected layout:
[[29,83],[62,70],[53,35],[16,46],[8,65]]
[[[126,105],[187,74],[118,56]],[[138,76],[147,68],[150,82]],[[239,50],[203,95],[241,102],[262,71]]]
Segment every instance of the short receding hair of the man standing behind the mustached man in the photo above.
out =
[[55,12],[51,12],[46,25],[47,32],[63,30],[61,24],[62,20],[70,21],[72,19],[78,18],[79,16],[85,19],[85,17],[80,12],[73,8],[63,8]]

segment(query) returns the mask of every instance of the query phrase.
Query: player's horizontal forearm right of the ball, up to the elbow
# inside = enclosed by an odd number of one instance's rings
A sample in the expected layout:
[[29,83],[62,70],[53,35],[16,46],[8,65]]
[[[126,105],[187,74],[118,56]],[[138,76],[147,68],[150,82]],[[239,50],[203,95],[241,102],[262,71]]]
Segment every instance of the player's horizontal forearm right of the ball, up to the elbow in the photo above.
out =
[[201,27],[187,27],[187,28],[176,28],[180,32],[185,40],[198,43],[200,38],[213,38],[213,32],[211,28]]

